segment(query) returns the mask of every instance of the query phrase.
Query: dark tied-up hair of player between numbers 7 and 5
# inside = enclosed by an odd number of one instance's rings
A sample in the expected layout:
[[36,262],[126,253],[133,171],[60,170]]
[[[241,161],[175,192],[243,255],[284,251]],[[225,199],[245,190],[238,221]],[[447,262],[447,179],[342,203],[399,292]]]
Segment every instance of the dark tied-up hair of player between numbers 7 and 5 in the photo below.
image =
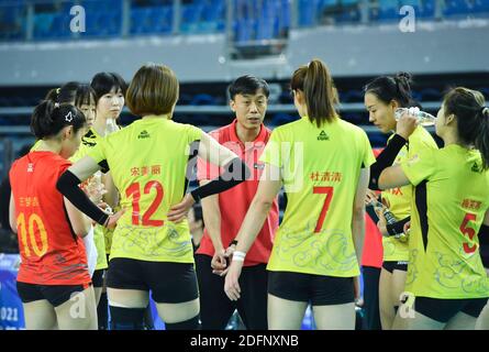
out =
[[396,100],[401,108],[410,108],[415,102],[411,96],[412,77],[408,73],[396,76],[380,76],[364,87],[364,94],[373,94],[385,103]]

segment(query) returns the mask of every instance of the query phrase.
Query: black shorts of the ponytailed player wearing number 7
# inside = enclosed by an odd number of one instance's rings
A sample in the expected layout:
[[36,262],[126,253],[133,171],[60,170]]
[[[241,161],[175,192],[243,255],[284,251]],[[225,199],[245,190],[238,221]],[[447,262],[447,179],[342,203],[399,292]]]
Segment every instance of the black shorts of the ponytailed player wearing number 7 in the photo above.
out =
[[268,294],[288,300],[308,301],[312,306],[355,301],[353,277],[269,272]]

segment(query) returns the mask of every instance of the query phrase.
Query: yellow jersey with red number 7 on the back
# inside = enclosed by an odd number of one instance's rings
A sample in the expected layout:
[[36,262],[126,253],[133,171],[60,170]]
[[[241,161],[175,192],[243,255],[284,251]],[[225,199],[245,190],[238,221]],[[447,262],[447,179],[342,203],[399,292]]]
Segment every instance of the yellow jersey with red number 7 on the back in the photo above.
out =
[[260,161],[280,167],[287,209],[267,268],[359,275],[352,237],[358,177],[375,162],[367,134],[341,119],[309,118],[274,130]]

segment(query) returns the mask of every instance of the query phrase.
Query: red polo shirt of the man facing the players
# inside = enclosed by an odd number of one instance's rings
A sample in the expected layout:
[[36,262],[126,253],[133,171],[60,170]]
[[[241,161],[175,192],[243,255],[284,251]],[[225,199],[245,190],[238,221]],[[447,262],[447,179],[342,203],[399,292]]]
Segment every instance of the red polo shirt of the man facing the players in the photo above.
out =
[[[243,143],[236,135],[236,123],[237,121],[234,120],[231,124],[209,133],[209,135],[220,144],[238,155],[249,167],[253,175],[251,179],[218,195],[219,208],[221,210],[221,240],[224,249],[226,249],[237,235],[249,205],[258,189],[259,177],[265,166],[259,162],[259,156],[271,134],[271,131],[262,124],[256,140]],[[218,166],[208,164],[200,158],[197,165],[199,180],[215,178],[221,172]],[[268,263],[277,229],[278,201],[276,198],[264,227],[246,254],[244,266]],[[210,256],[214,255],[214,246],[207,229],[203,232],[203,238],[197,253]]]

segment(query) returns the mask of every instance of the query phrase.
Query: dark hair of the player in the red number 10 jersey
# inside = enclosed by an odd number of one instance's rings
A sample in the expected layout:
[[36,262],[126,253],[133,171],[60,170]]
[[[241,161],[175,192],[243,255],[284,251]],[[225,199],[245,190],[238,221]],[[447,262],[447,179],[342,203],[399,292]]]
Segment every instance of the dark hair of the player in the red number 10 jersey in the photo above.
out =
[[67,125],[73,125],[76,133],[86,123],[87,119],[76,107],[44,100],[34,109],[31,131],[38,140],[42,140],[46,136],[55,136]]

